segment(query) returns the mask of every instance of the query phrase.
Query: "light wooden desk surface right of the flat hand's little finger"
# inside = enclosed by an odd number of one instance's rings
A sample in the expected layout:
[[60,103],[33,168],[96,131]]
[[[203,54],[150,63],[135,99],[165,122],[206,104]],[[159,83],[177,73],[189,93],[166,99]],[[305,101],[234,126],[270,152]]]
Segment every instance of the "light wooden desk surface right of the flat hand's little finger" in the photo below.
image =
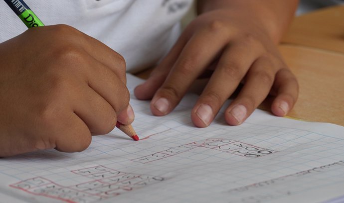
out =
[[288,116],[344,126],[344,54],[295,45],[279,48],[300,85]]

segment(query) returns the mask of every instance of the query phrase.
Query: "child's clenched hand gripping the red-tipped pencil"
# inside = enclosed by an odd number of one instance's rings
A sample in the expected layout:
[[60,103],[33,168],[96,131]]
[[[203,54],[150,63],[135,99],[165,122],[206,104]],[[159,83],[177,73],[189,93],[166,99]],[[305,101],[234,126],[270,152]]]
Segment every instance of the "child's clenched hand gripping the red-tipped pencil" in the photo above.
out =
[[117,118],[134,120],[123,57],[74,28],[31,28],[0,57],[0,157],[82,151]]

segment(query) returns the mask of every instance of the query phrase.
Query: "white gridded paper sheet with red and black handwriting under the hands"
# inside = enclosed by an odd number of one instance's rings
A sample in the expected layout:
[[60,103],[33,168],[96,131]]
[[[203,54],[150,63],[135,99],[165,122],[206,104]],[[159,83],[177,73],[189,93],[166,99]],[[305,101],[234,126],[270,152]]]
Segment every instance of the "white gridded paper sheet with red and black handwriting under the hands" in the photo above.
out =
[[[132,90],[139,79],[128,75]],[[195,128],[187,95],[165,117],[131,98],[140,141],[118,129],[81,153],[0,159],[1,203],[344,202],[344,127],[256,110]]]

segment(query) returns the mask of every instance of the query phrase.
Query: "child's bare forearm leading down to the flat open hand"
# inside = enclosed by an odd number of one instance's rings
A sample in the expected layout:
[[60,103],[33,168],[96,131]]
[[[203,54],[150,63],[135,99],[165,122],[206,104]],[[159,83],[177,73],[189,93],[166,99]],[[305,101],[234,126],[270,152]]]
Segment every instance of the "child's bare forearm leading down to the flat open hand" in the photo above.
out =
[[199,14],[227,8],[263,25],[277,43],[294,17],[299,0],[197,0]]

